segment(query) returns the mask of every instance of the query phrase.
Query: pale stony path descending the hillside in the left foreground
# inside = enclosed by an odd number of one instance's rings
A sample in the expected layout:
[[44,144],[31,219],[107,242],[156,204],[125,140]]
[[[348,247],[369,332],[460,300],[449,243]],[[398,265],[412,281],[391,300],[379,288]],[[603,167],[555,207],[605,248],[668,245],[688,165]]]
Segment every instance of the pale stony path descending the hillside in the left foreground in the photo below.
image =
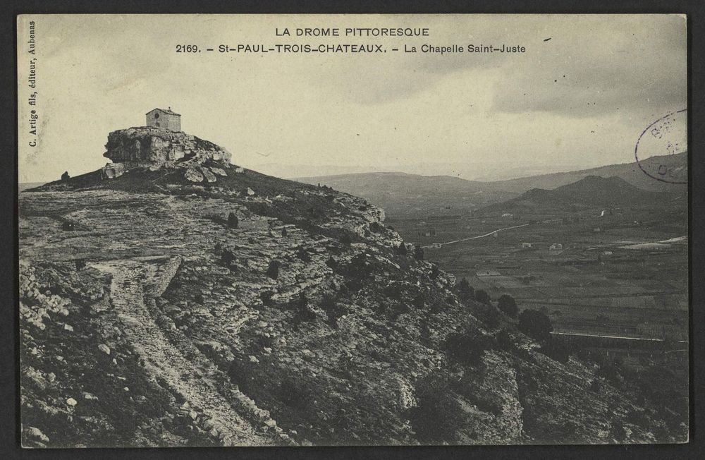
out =
[[122,260],[92,266],[111,274],[112,304],[125,326],[125,335],[144,360],[147,373],[161,377],[187,401],[182,410],[193,409],[192,417],[198,416],[201,428],[223,445],[272,444],[271,438],[255,431],[219,392],[212,378],[220,374],[216,365],[201,353],[193,353],[195,357],[191,360],[186,358],[154,322],[144,296],[156,279],[156,264]]

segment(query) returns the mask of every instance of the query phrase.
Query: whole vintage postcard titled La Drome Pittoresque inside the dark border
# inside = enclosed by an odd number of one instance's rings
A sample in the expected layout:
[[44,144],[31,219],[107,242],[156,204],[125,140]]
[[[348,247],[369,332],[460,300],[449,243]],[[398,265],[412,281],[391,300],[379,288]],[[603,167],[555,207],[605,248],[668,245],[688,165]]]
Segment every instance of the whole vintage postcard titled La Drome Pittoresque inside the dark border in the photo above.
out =
[[682,15],[20,15],[23,447],[689,440]]

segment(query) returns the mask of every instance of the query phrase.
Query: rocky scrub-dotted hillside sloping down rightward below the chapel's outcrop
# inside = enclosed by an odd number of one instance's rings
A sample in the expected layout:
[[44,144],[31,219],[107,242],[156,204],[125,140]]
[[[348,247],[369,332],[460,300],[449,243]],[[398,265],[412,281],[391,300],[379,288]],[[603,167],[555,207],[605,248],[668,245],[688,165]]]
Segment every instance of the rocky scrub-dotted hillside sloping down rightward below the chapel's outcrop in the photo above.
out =
[[133,169],[20,195],[23,444],[680,439],[368,202],[217,165],[216,183]]

